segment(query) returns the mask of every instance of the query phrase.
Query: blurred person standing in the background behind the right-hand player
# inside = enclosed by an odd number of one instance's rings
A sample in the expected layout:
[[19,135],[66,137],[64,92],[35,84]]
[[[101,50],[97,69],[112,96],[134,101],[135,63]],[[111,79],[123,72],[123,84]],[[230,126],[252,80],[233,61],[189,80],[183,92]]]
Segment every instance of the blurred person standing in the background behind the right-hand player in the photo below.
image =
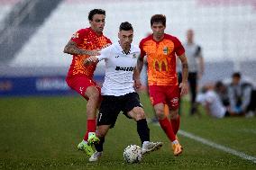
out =
[[[202,48],[194,42],[194,31],[187,30],[187,42],[184,44],[187,64],[188,64],[188,82],[191,94],[191,107],[190,115],[197,112],[197,80],[203,76],[204,73],[204,58],[202,55]],[[178,74],[179,81],[181,80],[181,74]]]

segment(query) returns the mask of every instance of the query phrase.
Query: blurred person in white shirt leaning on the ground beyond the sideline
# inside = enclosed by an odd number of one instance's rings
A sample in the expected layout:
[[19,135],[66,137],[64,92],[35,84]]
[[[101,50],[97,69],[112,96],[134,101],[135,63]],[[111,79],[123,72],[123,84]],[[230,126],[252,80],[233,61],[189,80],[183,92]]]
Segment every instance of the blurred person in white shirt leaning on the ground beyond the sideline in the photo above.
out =
[[206,113],[215,118],[224,118],[233,115],[228,107],[222,103],[220,96],[215,91],[214,85],[205,85],[202,92],[197,95],[197,103],[204,106]]

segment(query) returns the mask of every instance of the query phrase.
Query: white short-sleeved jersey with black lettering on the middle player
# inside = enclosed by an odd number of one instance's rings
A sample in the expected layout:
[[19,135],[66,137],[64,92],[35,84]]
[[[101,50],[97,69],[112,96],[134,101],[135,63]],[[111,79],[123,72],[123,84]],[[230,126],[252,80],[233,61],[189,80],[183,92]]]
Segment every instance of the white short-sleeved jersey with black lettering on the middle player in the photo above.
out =
[[105,81],[101,94],[120,96],[135,92],[133,87],[133,70],[140,55],[140,49],[131,45],[125,53],[120,44],[114,43],[102,49],[98,60],[105,60]]

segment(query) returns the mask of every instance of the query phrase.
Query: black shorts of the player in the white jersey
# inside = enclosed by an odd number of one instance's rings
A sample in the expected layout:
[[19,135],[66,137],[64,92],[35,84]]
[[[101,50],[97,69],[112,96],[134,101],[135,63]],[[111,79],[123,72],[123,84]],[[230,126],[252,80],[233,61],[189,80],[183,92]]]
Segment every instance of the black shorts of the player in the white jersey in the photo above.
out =
[[131,119],[127,112],[132,111],[134,107],[142,107],[137,93],[121,96],[103,95],[102,97],[103,100],[97,116],[97,126],[111,125],[111,128],[113,128],[119,112],[122,111],[126,117]]

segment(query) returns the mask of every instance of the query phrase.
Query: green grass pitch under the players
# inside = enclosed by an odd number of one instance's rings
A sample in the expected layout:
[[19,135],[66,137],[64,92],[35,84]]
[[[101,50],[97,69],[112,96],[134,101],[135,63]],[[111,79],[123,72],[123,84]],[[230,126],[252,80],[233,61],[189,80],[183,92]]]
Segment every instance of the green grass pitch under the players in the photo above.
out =
[[[141,94],[152,117],[151,104]],[[0,169],[256,169],[251,161],[179,135],[184,153],[174,157],[159,126],[149,124],[151,140],[164,147],[142,163],[123,163],[123,149],[140,145],[136,123],[120,115],[105,141],[104,157],[89,163],[77,150],[87,127],[86,102],[79,96],[0,98]],[[256,157],[256,119],[216,120],[206,115],[187,116],[183,103],[180,129]]]

